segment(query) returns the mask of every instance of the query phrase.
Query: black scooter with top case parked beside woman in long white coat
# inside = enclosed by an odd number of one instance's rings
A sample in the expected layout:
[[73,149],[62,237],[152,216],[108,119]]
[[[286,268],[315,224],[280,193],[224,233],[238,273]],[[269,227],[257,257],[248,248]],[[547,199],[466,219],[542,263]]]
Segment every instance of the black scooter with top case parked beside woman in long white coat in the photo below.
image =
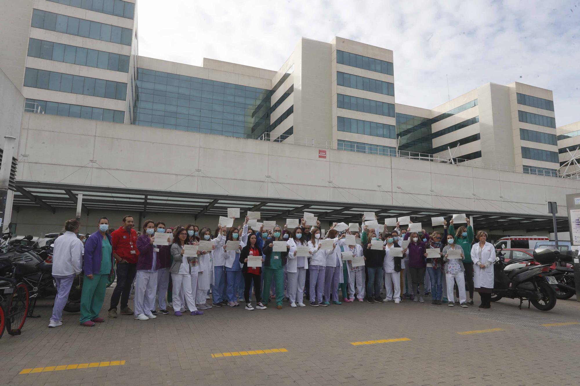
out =
[[[533,258],[518,258],[505,262],[502,249],[496,252],[494,264],[494,289],[491,301],[503,297],[520,299],[519,308],[524,300],[540,311],[549,311],[556,305],[556,278],[550,272],[542,272],[558,260],[560,251],[553,247],[534,250]],[[530,264],[535,260],[539,265]]]

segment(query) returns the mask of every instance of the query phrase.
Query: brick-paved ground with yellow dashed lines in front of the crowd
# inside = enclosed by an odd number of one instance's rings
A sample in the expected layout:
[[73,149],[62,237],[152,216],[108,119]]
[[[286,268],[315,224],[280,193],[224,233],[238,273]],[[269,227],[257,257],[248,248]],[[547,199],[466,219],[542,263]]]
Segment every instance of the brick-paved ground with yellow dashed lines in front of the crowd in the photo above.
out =
[[426,301],[285,302],[281,310],[254,311],[242,303],[144,322],[119,315],[95,327],[64,312],[63,326],[49,329],[52,300],[42,299],[35,309],[42,318],[0,340],[0,384],[578,384],[575,297],[550,312],[505,299],[487,310]]

